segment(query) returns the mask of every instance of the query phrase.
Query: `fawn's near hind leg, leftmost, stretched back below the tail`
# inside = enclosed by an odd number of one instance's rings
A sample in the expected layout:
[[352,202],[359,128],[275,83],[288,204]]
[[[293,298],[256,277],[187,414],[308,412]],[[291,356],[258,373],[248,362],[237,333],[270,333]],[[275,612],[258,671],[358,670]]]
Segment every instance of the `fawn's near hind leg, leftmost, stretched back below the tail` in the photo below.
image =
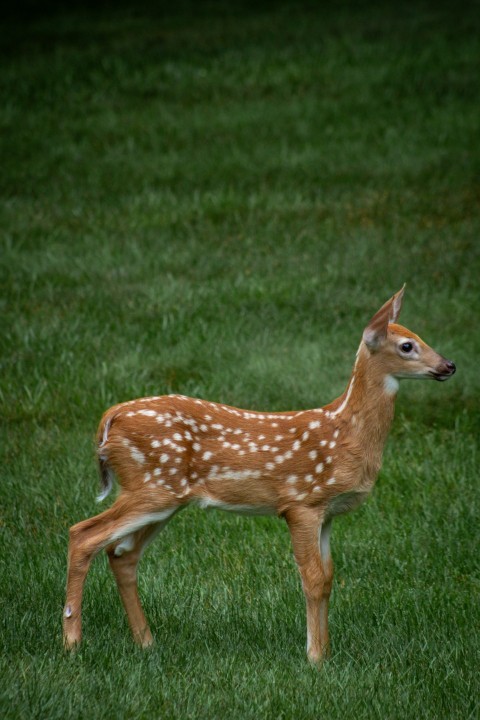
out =
[[63,637],[72,649],[82,637],[82,595],[90,563],[98,553],[117,540],[153,523],[166,521],[178,508],[173,498],[155,494],[150,498],[123,493],[111,508],[70,528],[67,593],[63,613]]

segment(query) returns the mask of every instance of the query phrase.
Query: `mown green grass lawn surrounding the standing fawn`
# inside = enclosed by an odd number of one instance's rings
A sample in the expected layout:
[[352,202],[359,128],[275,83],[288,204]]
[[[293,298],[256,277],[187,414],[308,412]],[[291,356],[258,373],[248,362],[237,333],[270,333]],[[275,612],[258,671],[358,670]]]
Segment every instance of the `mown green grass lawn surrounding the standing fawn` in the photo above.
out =
[[[1,717],[478,718],[478,3],[81,7],[3,31]],[[402,386],[334,523],[331,660],[306,661],[285,523],[199,510],[142,560],[154,648],[102,556],[66,655],[102,412],[321,406],[405,281],[458,372]]]

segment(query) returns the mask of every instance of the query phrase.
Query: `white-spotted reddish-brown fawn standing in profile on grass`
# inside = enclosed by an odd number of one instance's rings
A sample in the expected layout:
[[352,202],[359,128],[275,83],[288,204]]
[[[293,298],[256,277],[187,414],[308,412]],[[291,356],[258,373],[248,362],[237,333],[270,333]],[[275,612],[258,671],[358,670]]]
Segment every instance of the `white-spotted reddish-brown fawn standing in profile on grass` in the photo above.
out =
[[347,389],[329,405],[299,412],[239,410],[182,395],[115,405],[98,430],[109,510],[70,530],[67,648],[81,639],[81,603],[91,560],[106,549],[135,640],[152,635],[137,592],[137,564],[148,543],[190,503],[283,516],[307,603],[307,653],[328,653],[328,602],[335,515],[372,490],[393,419],[399,378],[446,380],[455,365],[395,324],[403,288],[365,328]]

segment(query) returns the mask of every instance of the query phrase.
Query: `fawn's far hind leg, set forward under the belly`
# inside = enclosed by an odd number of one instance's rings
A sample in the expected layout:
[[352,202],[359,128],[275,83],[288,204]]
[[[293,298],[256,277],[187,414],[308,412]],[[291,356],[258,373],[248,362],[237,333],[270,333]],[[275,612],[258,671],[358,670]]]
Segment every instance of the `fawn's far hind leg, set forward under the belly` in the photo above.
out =
[[120,542],[107,549],[110,567],[117,582],[123,607],[127,613],[133,639],[142,647],[151,645],[153,637],[138,596],[138,562],[147,545],[163,530],[170,517],[127,535]]

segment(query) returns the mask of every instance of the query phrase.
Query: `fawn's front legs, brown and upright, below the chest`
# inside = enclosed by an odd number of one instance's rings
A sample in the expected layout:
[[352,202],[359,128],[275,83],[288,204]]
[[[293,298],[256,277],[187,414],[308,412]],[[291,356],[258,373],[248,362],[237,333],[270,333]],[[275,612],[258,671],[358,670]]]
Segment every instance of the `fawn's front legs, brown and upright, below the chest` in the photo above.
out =
[[321,516],[318,509],[298,508],[286,513],[293,552],[302,578],[307,604],[307,655],[320,663],[329,651],[328,597],[331,566],[324,563],[319,548]]

